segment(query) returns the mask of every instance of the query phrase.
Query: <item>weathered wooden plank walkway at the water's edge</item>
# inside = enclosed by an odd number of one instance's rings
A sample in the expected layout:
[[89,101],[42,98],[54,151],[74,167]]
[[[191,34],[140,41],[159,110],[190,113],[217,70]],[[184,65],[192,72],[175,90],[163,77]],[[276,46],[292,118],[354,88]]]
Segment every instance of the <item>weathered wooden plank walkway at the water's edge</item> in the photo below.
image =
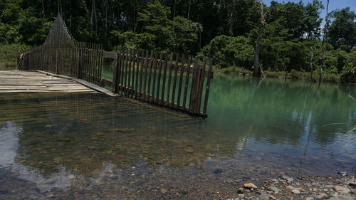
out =
[[0,93],[96,93],[84,85],[33,71],[0,70]]

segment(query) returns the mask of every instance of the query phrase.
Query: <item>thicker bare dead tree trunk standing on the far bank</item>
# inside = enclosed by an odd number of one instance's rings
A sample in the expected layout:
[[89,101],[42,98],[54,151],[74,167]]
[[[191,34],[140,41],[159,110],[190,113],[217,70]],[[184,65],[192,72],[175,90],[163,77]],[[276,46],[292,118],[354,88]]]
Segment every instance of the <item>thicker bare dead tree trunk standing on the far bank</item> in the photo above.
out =
[[262,41],[262,33],[263,33],[263,26],[265,23],[265,15],[263,13],[263,2],[260,0],[261,5],[261,22],[258,26],[258,36],[256,41],[255,47],[255,62],[254,62],[254,69],[253,69],[253,76],[256,77],[263,77],[263,70],[260,62],[260,52],[261,52],[261,41]]

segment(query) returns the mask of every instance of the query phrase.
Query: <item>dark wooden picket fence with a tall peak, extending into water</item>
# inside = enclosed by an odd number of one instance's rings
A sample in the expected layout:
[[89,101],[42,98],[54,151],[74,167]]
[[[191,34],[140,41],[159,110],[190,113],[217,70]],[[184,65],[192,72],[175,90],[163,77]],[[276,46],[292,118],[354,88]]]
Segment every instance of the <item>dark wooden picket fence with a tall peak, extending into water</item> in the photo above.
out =
[[110,53],[101,44],[75,41],[59,14],[43,45],[19,53],[18,69],[66,75],[201,117],[207,116],[213,78],[206,58],[127,48]]

